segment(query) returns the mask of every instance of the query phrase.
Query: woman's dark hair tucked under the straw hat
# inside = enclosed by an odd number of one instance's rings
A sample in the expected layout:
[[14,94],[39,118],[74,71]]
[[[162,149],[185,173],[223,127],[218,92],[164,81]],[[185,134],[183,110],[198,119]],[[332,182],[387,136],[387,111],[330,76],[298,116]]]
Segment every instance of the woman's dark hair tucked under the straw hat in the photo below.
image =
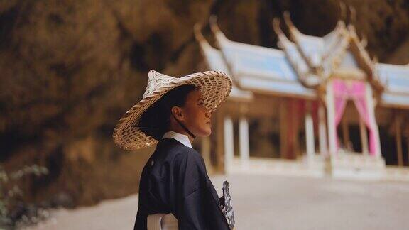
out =
[[193,84],[184,84],[170,90],[141,115],[138,126],[141,131],[156,140],[169,130],[173,106],[185,106],[187,94],[197,89]]

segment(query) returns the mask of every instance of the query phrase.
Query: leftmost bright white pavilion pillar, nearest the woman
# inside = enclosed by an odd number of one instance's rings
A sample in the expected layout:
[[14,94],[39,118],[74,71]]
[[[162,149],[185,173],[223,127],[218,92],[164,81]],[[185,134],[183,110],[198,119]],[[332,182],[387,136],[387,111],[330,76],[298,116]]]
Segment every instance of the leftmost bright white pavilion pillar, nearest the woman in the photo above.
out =
[[234,158],[234,131],[230,116],[224,117],[224,171],[229,172]]

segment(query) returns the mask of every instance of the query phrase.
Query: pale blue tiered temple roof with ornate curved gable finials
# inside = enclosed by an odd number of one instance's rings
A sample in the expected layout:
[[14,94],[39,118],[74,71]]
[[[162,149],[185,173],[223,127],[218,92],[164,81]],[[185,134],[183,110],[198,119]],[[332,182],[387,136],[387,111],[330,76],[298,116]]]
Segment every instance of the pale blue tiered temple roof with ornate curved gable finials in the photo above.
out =
[[251,99],[251,92],[315,99],[328,79],[341,77],[368,81],[383,106],[409,108],[409,65],[371,60],[366,39],[359,38],[353,25],[338,21],[333,31],[317,37],[298,31],[289,13],[284,19],[290,38],[280,21],[273,21],[281,50],[231,41],[211,19],[218,50],[195,28],[209,68],[233,77],[232,99]]

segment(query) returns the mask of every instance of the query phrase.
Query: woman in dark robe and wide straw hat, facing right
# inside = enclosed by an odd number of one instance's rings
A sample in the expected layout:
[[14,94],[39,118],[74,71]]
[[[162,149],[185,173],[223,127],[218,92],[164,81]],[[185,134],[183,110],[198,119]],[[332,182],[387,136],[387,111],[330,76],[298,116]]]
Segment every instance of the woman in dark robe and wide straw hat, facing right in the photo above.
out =
[[[231,90],[222,72],[175,78],[151,70],[143,99],[114,130],[127,150],[158,143],[141,175],[134,229],[147,229],[149,215],[173,214],[179,229],[229,229],[205,163],[192,148],[196,136],[209,136],[211,111]],[[229,220],[229,218],[228,218]]]

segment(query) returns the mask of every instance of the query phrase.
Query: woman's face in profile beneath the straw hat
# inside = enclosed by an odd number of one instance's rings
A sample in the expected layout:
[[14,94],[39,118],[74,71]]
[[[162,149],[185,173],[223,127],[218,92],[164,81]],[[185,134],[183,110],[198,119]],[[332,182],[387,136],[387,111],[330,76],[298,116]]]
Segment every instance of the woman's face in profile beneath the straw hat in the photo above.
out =
[[182,107],[183,124],[195,136],[209,136],[212,133],[210,111],[205,107],[205,100],[199,90],[195,89],[186,97],[185,106]]

